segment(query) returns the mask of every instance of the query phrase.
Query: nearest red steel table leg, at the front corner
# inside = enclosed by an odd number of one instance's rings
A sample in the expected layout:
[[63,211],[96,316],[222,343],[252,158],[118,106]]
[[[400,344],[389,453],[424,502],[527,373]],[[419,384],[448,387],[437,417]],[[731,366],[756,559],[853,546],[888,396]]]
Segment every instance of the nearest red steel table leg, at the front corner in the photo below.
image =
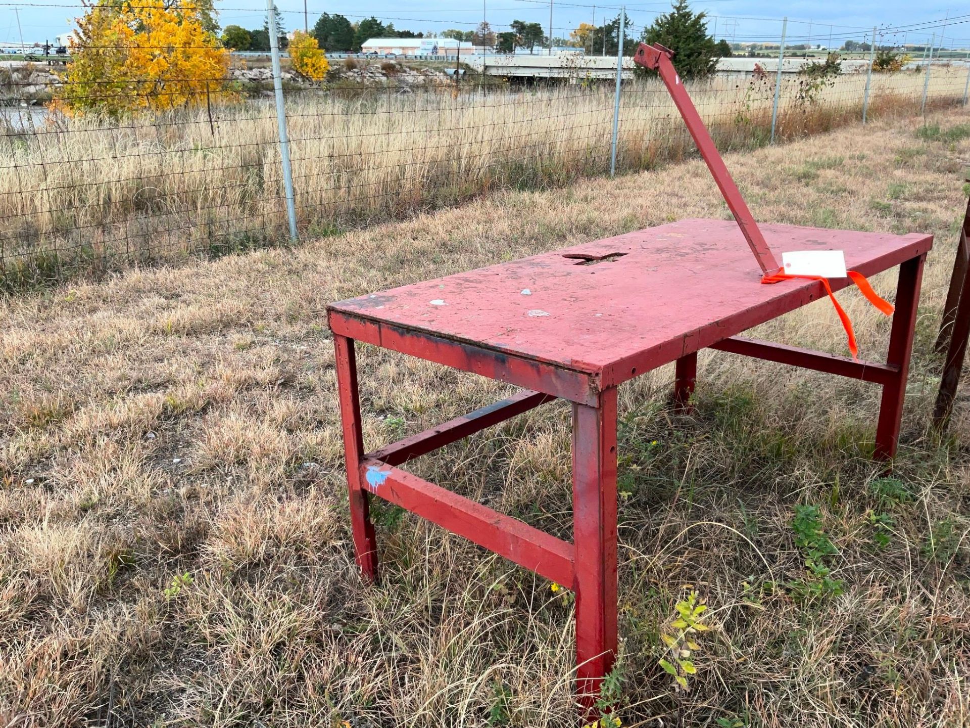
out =
[[576,692],[591,719],[617,648],[616,388],[598,404],[572,405]]

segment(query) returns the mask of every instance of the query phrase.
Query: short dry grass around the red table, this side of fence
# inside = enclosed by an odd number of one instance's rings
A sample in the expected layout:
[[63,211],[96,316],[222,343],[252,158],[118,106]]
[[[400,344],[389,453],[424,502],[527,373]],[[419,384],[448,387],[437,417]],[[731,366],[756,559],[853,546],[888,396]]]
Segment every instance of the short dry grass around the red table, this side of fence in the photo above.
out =
[[[946,130],[967,116],[933,120]],[[666,369],[625,385],[625,725],[966,725],[970,408],[962,397],[943,443],[927,414],[970,142],[924,136],[883,120],[727,156],[760,219],[937,234],[898,481],[878,480],[867,456],[877,392],[861,382],[709,352],[689,419],[665,408]],[[0,723],[570,724],[563,592],[386,507],[383,583],[358,579],[323,308],[725,215],[690,161],[0,302]],[[874,284],[890,292],[892,277]],[[840,298],[863,355],[879,356],[888,321]],[[759,333],[844,342],[825,302]],[[505,391],[370,347],[360,359],[371,447]],[[567,533],[560,403],[415,468]],[[821,508],[842,595],[806,593],[816,582],[794,543],[796,505]],[[692,690],[675,694],[659,629],[687,584],[713,629]]]

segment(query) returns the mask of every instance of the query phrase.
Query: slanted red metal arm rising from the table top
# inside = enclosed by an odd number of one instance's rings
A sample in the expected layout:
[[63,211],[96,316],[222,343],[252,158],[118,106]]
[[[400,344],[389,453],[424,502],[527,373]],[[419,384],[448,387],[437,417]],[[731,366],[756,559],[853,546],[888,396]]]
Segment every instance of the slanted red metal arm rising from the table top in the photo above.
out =
[[671,50],[663,48],[660,44],[648,46],[645,43],[641,43],[636,49],[636,54],[633,56],[633,62],[644,68],[649,68],[651,71],[658,71],[660,73],[664,85],[666,85],[667,90],[670,92],[670,96],[673,97],[673,103],[677,106],[677,111],[680,112],[680,116],[684,117],[684,121],[687,123],[687,129],[691,132],[691,136],[694,137],[694,143],[697,145],[700,155],[704,158],[704,161],[707,163],[707,168],[714,176],[714,182],[717,182],[718,188],[721,190],[725,202],[727,202],[727,207],[730,209],[731,215],[734,215],[734,219],[737,221],[738,227],[741,228],[744,239],[748,241],[748,246],[755,253],[755,258],[758,260],[761,271],[763,273],[775,273],[780,270],[781,266],[775,260],[771,248],[768,248],[768,244],[764,242],[764,236],[761,235],[758,223],[755,222],[755,217],[748,210],[744,198],[741,197],[741,191],[737,188],[734,180],[731,179],[724,159],[718,153],[718,148],[714,146],[714,140],[711,139],[707,127],[704,126],[700,115],[697,114],[694,102],[691,101],[691,97],[684,89],[684,84],[680,83],[680,76],[677,74],[677,69],[670,62],[672,55],[673,52]]

